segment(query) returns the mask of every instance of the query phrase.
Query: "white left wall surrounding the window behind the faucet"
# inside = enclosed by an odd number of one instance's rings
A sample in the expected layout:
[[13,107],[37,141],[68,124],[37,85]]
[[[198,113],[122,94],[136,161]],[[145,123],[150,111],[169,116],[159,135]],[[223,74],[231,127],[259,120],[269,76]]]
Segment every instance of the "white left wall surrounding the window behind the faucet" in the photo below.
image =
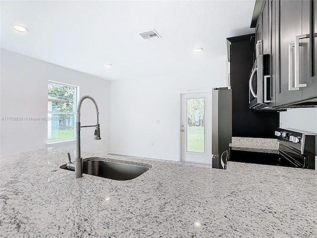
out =
[[[110,83],[85,73],[1,49],[0,117],[47,117],[48,80],[80,86],[80,97],[90,95],[100,108],[102,140],[93,140],[94,129],[82,128],[81,149],[109,152]],[[83,102],[82,125],[96,123],[96,109]],[[75,149],[75,142],[47,145],[47,121],[0,121],[0,154],[47,147]]]

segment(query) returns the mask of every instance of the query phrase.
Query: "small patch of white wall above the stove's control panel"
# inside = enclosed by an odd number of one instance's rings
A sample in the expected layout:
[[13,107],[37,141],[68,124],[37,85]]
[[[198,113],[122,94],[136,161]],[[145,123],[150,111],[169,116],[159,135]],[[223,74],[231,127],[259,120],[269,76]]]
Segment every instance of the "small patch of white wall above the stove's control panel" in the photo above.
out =
[[317,155],[317,108],[288,109],[279,114],[281,127],[313,132],[316,134]]

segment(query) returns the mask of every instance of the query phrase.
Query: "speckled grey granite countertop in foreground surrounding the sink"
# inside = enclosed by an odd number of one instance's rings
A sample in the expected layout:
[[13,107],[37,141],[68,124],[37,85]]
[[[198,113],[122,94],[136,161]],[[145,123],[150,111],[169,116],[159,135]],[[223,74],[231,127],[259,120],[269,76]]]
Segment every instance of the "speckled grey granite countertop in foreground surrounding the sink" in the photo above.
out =
[[58,150],[2,157],[0,237],[317,237],[316,171],[235,162],[225,171],[99,157],[152,168],[126,181],[75,179],[71,171],[49,172],[48,162],[67,162]]

